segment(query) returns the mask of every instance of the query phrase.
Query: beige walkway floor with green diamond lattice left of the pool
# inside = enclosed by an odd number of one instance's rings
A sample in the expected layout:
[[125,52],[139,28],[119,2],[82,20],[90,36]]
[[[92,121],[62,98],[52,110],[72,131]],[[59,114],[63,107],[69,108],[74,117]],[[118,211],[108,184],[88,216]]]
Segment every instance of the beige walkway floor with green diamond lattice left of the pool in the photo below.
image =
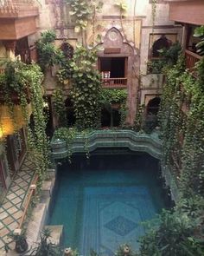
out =
[[4,244],[11,241],[8,234],[19,225],[22,217],[22,203],[34,174],[34,164],[29,158],[25,159],[3,200],[3,205],[0,207],[0,253]]

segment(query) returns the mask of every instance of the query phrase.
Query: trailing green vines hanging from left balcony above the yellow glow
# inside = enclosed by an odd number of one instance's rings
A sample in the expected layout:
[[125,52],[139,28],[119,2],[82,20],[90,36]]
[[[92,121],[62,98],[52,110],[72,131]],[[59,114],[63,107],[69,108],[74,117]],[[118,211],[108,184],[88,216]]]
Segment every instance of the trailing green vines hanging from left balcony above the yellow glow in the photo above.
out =
[[[15,103],[22,108],[23,117],[28,129],[28,150],[33,155],[35,169],[40,181],[48,168],[48,138],[45,134],[47,116],[44,114],[44,101],[41,89],[43,75],[38,65],[27,65],[22,62],[4,62],[5,72],[0,75],[0,87],[5,95],[5,104],[10,108],[10,117],[15,123]],[[16,102],[12,101],[16,95]],[[32,107],[34,127],[29,126],[28,103]]]

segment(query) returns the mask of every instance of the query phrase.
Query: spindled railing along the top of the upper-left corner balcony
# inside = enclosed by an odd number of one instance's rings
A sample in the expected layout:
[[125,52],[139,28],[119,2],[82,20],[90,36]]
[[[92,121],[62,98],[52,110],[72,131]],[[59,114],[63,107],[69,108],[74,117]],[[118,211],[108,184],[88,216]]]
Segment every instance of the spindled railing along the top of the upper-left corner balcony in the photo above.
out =
[[0,17],[37,16],[34,0],[0,0]]

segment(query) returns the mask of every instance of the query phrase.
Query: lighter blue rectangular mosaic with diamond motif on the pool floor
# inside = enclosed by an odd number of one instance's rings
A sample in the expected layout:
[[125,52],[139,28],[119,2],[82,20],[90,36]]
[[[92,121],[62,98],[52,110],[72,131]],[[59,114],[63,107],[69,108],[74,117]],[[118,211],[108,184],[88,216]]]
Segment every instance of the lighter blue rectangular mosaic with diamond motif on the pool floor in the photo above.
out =
[[137,250],[137,239],[144,233],[141,222],[155,214],[146,187],[86,187],[81,254],[88,255],[92,248],[112,256],[125,242]]

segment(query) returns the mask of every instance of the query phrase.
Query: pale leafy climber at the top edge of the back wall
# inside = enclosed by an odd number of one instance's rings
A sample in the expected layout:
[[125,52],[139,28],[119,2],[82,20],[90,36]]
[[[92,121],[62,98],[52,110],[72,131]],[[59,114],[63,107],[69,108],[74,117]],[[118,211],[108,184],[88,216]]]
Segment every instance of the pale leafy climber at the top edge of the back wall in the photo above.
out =
[[94,0],[67,0],[67,3],[71,7],[69,14],[76,19],[75,32],[86,30],[88,21],[92,20],[95,11],[99,11],[103,6],[102,2]]

